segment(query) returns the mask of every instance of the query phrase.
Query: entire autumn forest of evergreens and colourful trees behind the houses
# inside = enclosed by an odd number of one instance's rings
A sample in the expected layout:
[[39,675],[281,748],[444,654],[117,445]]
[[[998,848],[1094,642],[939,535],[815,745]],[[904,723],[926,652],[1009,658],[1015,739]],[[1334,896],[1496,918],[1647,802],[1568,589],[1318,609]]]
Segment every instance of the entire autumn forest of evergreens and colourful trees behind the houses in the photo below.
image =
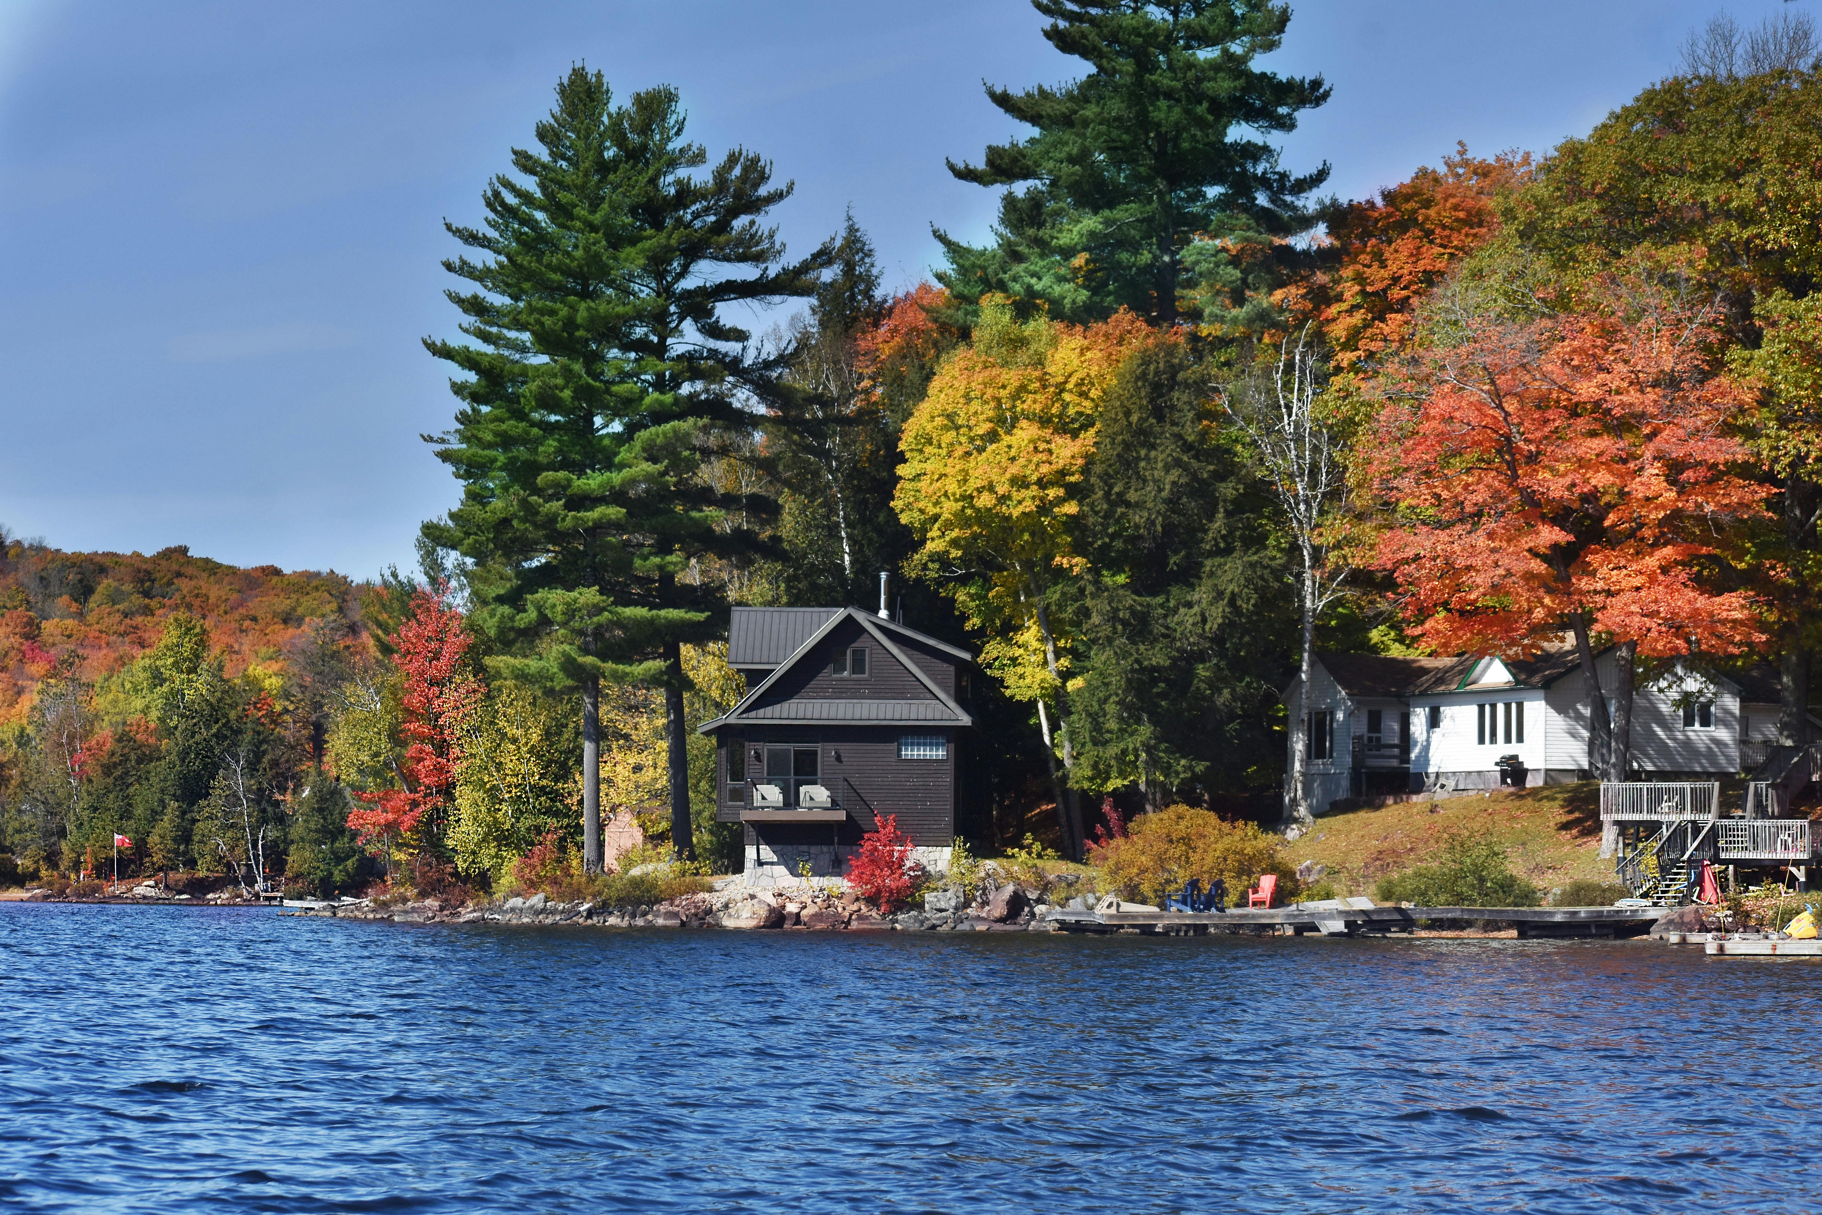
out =
[[[1807,16],[1716,18],[1581,137],[1339,200],[1272,144],[1330,97],[1257,62],[1286,5],[1033,7],[1080,75],[988,86],[1029,133],[947,171],[998,219],[898,291],[853,217],[787,251],[793,186],[691,142],[674,89],[567,73],[448,224],[456,492],[417,568],[0,532],[0,865],[102,874],[124,836],[135,874],[488,887],[625,863],[630,820],[630,860],[725,871],[696,725],[740,696],[729,607],[873,607],[880,572],[993,676],[984,851],[1295,822],[1283,698],[1330,647],[1771,661],[1804,741]],[[1589,769],[1623,774],[1629,692],[1591,696]]]

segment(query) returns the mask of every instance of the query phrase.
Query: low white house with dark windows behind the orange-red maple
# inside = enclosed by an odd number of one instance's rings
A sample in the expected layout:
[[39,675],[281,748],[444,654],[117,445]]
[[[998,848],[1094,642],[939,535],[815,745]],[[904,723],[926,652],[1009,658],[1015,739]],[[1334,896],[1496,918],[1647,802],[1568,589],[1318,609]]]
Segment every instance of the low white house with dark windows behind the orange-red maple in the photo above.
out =
[[[1594,659],[1609,696],[1612,658],[1605,650]],[[1527,785],[1589,774],[1589,710],[1574,647],[1529,661],[1319,654],[1308,707],[1295,679],[1285,701],[1308,714],[1315,814],[1348,796],[1492,789],[1501,769],[1523,772]],[[1633,765],[1660,780],[1735,776],[1764,758],[1776,718],[1776,676],[1767,669],[1735,678],[1678,669],[1633,692]]]

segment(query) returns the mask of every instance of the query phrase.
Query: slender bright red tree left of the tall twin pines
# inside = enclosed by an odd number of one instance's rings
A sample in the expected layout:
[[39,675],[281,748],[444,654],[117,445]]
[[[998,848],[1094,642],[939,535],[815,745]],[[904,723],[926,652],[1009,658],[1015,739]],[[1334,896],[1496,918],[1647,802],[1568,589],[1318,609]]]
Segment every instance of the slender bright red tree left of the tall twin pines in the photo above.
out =
[[461,761],[461,723],[481,701],[485,689],[468,674],[466,654],[474,638],[443,592],[419,590],[399,627],[397,665],[404,676],[403,789],[357,792],[361,807],[348,814],[348,827],[361,843],[386,851],[443,851],[443,832],[456,805],[456,765]]

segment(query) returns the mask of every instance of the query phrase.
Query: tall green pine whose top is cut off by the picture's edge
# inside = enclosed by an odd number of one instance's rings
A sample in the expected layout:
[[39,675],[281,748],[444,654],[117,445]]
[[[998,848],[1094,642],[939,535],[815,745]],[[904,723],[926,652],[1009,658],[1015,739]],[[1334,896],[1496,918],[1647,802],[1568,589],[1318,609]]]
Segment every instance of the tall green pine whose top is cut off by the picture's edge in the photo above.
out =
[[[1091,71],[1060,87],[988,86],[988,98],[1037,135],[989,146],[980,166],[949,162],[977,186],[1017,186],[1000,202],[995,244],[938,231],[960,301],[986,291],[1042,301],[1053,317],[1099,319],[1121,306],[1173,324],[1188,279],[1243,302],[1274,239],[1306,230],[1299,199],[1328,166],[1294,175],[1277,149],[1237,135],[1290,131],[1328,100],[1321,77],[1252,66],[1275,51],[1290,7],[1274,0],[1031,0],[1044,38]],[[1255,246],[1230,257],[1219,239]],[[1195,248],[1192,250],[1192,242]],[[1255,291],[1252,291],[1255,293]]]

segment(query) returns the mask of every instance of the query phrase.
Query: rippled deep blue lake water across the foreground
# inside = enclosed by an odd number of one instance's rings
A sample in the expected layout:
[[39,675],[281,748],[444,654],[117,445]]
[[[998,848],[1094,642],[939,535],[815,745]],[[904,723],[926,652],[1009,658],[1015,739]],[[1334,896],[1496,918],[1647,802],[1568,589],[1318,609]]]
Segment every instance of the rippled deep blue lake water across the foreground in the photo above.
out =
[[0,1206],[1818,1210],[1818,980],[1643,942],[0,904]]

